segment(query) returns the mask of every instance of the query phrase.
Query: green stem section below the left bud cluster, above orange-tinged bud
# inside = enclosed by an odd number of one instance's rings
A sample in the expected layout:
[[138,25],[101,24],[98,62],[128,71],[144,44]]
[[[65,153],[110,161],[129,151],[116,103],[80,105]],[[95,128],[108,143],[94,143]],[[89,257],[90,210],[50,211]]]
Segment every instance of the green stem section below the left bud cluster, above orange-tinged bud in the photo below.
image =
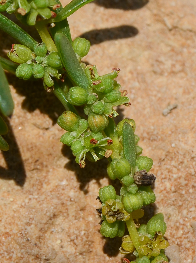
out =
[[73,113],[75,113],[78,117],[79,114],[75,107],[71,105],[67,99],[64,91],[59,87],[58,83],[54,80],[54,90],[53,90],[54,95],[60,100],[60,102],[63,104],[66,110],[69,110]]

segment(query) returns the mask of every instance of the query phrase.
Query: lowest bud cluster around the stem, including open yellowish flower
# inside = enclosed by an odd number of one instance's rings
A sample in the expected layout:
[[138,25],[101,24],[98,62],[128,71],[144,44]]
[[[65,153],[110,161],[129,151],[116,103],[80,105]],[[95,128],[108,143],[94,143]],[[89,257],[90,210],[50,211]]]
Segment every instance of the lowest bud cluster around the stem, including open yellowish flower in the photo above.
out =
[[[153,262],[168,262],[167,257],[164,254],[164,249],[168,247],[169,243],[164,239],[163,235],[166,231],[166,224],[164,222],[164,216],[162,213],[154,215],[147,223],[142,224],[138,229],[139,243],[138,252],[144,255],[140,261],[141,263]],[[120,252],[122,254],[129,254],[135,251],[134,245],[129,235],[122,237],[122,247]],[[134,254],[137,256],[137,252]],[[149,260],[150,259],[150,260]],[[139,259],[138,259],[139,260]],[[162,260],[162,261],[159,261]]]

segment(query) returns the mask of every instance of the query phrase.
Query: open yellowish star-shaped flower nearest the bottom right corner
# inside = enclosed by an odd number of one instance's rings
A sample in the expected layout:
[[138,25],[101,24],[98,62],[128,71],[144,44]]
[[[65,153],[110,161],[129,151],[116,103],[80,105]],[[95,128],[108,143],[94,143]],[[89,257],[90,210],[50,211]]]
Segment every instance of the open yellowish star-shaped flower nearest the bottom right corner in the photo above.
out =
[[169,246],[168,241],[163,238],[162,232],[156,232],[153,239],[146,235],[140,236],[138,241],[142,244],[138,248],[139,252],[148,258],[158,256],[160,249],[165,249]]

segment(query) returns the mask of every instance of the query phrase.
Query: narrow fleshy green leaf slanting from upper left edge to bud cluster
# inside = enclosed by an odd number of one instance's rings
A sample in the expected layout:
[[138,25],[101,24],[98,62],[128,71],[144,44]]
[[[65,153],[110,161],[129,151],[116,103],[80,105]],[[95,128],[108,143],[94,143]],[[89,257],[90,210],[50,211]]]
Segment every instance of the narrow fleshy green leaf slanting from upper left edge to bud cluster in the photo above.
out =
[[29,47],[34,51],[34,47],[37,45],[35,41],[27,32],[25,32],[21,27],[17,26],[9,18],[0,14],[0,29],[8,33],[10,36],[15,38],[21,44]]

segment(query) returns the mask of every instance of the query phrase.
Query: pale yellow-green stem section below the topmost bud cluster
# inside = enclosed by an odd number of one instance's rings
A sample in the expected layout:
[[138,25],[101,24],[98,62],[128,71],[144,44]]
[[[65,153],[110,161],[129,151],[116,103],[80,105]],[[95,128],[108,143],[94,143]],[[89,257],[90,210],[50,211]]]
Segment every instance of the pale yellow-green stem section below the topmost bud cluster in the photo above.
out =
[[49,51],[57,51],[56,45],[54,44],[54,41],[52,40],[51,35],[48,32],[46,24],[42,21],[38,21],[35,24],[35,28],[37,29],[37,32],[42,41],[46,44],[47,49]]

